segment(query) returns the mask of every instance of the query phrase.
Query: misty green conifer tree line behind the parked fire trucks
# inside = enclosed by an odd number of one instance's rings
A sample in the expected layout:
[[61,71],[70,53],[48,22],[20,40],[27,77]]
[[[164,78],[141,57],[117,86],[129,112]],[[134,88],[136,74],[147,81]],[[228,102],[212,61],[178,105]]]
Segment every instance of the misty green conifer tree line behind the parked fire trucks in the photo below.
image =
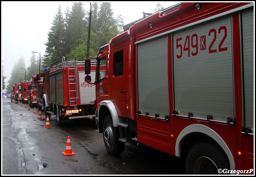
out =
[[[45,54],[42,55],[40,53],[41,72],[63,56],[66,61],[71,60],[74,56],[77,57],[78,61],[86,59],[90,11],[85,11],[83,6],[84,3],[74,2],[71,9],[67,7],[63,13],[61,4],[59,4],[50,32],[48,32]],[[123,32],[124,18],[121,15],[114,18],[113,14],[110,2],[103,2],[102,4],[92,3],[90,57],[97,56],[101,46],[107,44],[111,38]],[[38,73],[40,57],[38,54],[33,53],[30,57],[30,66],[26,68],[25,59],[23,56],[20,56],[14,64],[11,77],[8,80],[8,92],[15,83],[25,80],[25,71],[26,80],[32,79],[32,76]],[[25,70],[20,68],[25,68]],[[3,88],[5,78],[3,76]]]

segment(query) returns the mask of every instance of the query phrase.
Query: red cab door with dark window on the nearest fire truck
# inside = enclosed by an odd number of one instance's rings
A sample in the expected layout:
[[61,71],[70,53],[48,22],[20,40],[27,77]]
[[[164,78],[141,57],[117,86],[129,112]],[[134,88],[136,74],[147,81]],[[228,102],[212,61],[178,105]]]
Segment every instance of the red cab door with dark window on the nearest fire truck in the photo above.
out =
[[112,50],[111,100],[118,116],[127,117],[125,93],[125,46]]

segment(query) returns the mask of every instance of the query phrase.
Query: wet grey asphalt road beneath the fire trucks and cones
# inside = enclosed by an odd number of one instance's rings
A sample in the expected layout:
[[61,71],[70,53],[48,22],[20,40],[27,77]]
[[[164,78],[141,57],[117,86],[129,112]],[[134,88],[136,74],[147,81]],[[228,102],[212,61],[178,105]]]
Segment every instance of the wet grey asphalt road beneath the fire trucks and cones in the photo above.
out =
[[[137,142],[124,152],[109,155],[92,118],[75,119],[59,126],[54,115],[51,128],[38,120],[39,111],[2,99],[3,175],[173,175],[184,174],[178,158]],[[70,136],[75,155],[63,155]]]

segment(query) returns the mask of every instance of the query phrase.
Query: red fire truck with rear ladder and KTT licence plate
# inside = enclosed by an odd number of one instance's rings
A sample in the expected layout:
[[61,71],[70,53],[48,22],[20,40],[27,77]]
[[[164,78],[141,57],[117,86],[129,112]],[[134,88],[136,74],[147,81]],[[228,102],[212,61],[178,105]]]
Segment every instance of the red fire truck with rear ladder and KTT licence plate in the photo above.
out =
[[[95,72],[96,66],[91,69]],[[67,62],[63,57],[51,64],[43,77],[42,100],[46,117],[56,115],[58,124],[85,117],[95,119],[95,85],[85,83],[84,77],[85,62],[77,62],[76,57]]]

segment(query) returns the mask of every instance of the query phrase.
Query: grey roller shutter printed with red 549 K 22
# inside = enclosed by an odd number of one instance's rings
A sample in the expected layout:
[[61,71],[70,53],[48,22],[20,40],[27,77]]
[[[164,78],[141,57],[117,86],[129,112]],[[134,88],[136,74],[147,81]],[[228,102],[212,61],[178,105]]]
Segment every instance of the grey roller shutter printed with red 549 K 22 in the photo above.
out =
[[173,38],[175,111],[234,118],[231,16],[175,32]]

